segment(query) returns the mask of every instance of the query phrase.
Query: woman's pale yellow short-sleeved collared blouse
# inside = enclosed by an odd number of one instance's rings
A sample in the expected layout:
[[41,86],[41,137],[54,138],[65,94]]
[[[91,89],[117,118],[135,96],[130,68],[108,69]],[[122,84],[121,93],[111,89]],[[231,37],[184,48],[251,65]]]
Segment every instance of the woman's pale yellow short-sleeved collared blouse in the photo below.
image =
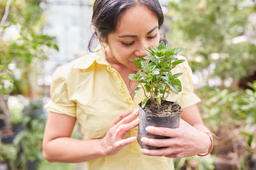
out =
[[[179,56],[180,59],[185,59]],[[170,94],[168,101],[177,101],[182,108],[200,99],[193,92],[191,69],[188,62],[176,66],[173,73],[182,72],[182,92]],[[109,124],[122,112],[138,108],[144,98],[141,89],[132,100],[120,74],[106,61],[104,48],[76,59],[56,69],[52,76],[51,102],[46,108],[54,113],[76,117],[82,139],[103,138]],[[138,127],[129,131],[127,138],[137,136]],[[90,149],[90,148],[88,148]],[[140,153],[137,141],[124,146],[116,155],[86,162],[87,170],[162,170],[174,169],[173,159],[150,157]]]

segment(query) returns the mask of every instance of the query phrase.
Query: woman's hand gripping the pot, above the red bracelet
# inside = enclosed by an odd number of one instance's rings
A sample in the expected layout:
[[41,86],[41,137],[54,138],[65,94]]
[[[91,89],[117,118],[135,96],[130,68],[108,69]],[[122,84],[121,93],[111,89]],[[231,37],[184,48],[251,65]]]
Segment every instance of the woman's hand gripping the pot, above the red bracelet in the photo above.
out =
[[211,139],[205,132],[199,131],[181,118],[179,128],[147,127],[146,131],[151,134],[168,136],[170,138],[141,138],[141,141],[146,145],[167,147],[159,150],[141,149],[141,153],[145,155],[170,158],[191,157],[200,153],[207,153],[209,146],[211,146]]

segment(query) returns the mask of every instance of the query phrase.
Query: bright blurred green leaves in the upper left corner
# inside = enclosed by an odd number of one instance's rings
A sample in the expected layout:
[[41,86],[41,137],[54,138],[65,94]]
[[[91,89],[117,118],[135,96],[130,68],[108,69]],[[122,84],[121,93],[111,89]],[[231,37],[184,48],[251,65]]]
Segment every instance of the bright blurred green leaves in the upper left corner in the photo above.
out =
[[[38,1],[11,1],[8,17],[0,26],[0,92],[10,94],[14,80],[19,86],[28,86],[28,74],[32,66],[47,59],[52,49],[58,50],[56,39],[42,32],[45,15]],[[0,1],[0,19],[4,16],[7,0]],[[12,64],[12,67],[10,64]],[[13,69],[19,70],[15,76]],[[17,71],[16,71],[17,72]],[[19,83],[21,82],[21,83]]]

